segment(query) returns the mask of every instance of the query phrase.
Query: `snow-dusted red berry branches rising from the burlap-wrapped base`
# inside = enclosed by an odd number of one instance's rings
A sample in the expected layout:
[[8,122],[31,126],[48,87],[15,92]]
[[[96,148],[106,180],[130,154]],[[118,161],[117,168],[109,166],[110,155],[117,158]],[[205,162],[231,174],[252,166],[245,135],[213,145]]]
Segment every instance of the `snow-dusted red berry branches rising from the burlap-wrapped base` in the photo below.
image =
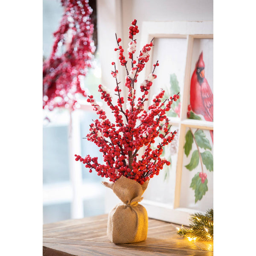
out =
[[[103,85],[99,85],[101,98],[107,103],[115,116],[116,122],[111,123],[107,118],[105,111],[96,103],[93,96],[89,96],[87,101],[94,107],[94,111],[99,115],[99,119],[94,120],[90,125],[90,133],[87,134],[87,140],[92,141],[99,147],[99,151],[103,154],[104,163],[98,163],[97,157],[87,155],[82,158],[75,155],[76,161],[81,161],[85,167],[89,168],[89,172],[95,170],[99,176],[109,178],[115,182],[122,175],[136,180],[143,184],[154,175],[158,175],[163,166],[169,165],[170,162],[160,157],[163,147],[172,142],[176,131],[170,131],[169,119],[166,116],[171,108],[172,102],[179,99],[179,93],[170,96],[163,102],[164,90],[161,90],[152,99],[152,104],[144,109],[145,102],[148,101],[148,91],[152,86],[153,80],[157,78],[154,74],[155,68],[159,65],[158,61],[153,66],[152,73],[140,85],[142,96],[136,99],[135,84],[139,73],[145,67],[149,58],[149,52],[153,46],[153,39],[141,49],[137,61],[134,60],[133,54],[136,51],[136,41],[134,35],[139,30],[136,26],[137,20],[134,20],[129,27],[129,38],[131,42],[127,49],[128,58],[131,59],[131,70],[128,71],[127,60],[124,56],[124,49],[120,45],[121,38],[117,38],[117,47],[115,51],[119,51],[119,61],[126,70],[125,87],[128,88],[128,98],[125,109],[125,101],[121,96],[121,89],[117,79],[118,70],[116,70],[115,62],[112,62],[114,70],[111,72],[116,81],[115,93],[118,97],[115,105],[112,100],[111,92]],[[151,146],[155,142],[155,138],[160,137],[161,141],[156,149]],[[144,148],[141,159],[139,159],[138,151]]]

